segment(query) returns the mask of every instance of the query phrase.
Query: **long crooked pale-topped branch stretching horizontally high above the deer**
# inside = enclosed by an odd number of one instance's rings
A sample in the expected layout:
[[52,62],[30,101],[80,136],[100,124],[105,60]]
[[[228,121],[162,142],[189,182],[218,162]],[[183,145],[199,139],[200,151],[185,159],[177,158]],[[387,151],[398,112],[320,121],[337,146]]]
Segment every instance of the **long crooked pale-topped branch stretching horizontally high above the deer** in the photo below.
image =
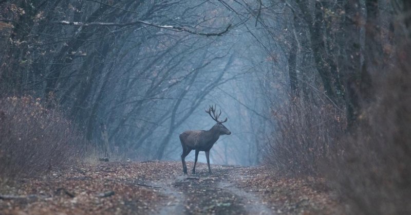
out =
[[76,26],[129,26],[129,25],[137,25],[137,24],[142,24],[142,25],[149,25],[153,26],[156,28],[164,28],[168,30],[173,30],[173,31],[185,31],[189,32],[192,34],[197,34],[197,35],[203,35],[203,36],[221,36],[222,34],[228,32],[228,30],[231,27],[231,24],[227,26],[226,30],[216,32],[216,33],[204,33],[204,32],[197,32],[193,31],[187,28],[179,27],[179,26],[173,26],[173,25],[157,25],[145,21],[134,21],[134,22],[128,22],[128,23],[82,23],[82,22],[68,22],[68,21],[59,21],[59,22],[54,22],[55,24],[60,24],[60,25],[76,25]]

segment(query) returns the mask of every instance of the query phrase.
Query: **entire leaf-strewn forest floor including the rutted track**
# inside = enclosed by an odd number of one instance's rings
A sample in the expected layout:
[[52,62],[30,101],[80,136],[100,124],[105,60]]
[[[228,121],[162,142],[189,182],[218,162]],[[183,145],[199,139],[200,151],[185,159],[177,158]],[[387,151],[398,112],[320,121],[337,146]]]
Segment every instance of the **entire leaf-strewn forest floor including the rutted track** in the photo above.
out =
[[[188,163],[191,168],[193,163]],[[318,180],[286,180],[264,167],[180,162],[80,163],[0,187],[0,214],[335,214]],[[320,183],[321,184],[321,183]]]

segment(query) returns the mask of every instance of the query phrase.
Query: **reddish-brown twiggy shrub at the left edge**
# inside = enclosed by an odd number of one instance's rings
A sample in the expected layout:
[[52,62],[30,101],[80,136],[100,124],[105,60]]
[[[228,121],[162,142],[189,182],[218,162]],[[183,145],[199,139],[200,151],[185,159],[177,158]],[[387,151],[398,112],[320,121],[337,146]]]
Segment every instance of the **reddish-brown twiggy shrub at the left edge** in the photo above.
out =
[[0,99],[0,177],[35,176],[79,155],[81,137],[57,110],[30,96]]

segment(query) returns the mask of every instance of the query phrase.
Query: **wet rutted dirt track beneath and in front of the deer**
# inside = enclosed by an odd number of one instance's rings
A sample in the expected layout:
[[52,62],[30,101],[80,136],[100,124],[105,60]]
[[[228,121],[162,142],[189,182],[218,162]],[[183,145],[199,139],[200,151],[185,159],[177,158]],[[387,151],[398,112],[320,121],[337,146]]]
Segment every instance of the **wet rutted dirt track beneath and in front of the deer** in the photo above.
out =
[[159,214],[274,214],[259,196],[235,183],[248,167],[213,165],[209,174],[205,164],[198,165],[197,174],[179,175],[162,185],[170,199]]

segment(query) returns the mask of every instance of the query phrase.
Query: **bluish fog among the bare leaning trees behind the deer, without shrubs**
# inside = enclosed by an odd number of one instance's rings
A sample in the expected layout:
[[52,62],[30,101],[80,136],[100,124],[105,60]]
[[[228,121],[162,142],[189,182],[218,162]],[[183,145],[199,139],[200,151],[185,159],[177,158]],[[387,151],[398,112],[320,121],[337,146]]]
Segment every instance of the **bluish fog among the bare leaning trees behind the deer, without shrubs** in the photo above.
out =
[[26,20],[26,33],[2,27],[5,95],[40,98],[64,112],[97,151],[134,160],[180,159],[179,134],[210,129],[215,122],[204,110],[216,104],[232,135],[217,141],[212,163],[260,162],[273,131],[272,103],[285,99],[278,92],[288,87],[284,47],[270,39],[286,29],[275,15],[284,5],[267,2],[263,11],[236,1],[21,4],[17,10],[5,3],[14,12],[4,20],[19,11],[35,19]]

